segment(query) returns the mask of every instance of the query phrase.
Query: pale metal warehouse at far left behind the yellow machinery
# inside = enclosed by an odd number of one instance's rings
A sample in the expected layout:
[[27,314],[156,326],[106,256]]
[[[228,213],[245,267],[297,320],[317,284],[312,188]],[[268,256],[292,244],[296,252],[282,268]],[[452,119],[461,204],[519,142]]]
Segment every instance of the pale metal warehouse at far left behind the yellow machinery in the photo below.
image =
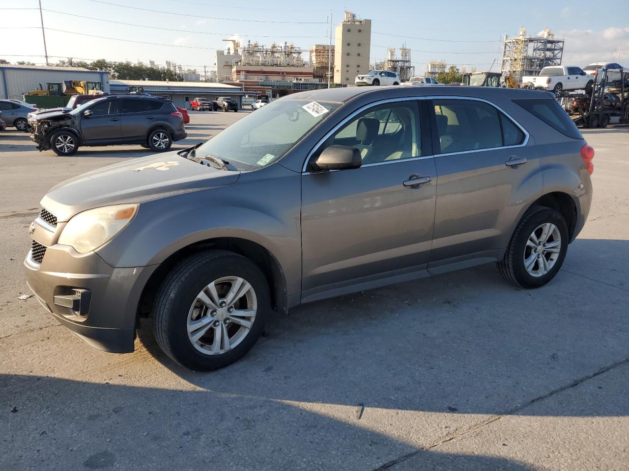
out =
[[30,90],[39,89],[40,85],[46,89],[48,83],[60,83],[65,80],[102,82],[103,91],[109,92],[109,72],[106,70],[0,64],[0,98],[21,99],[22,95]]

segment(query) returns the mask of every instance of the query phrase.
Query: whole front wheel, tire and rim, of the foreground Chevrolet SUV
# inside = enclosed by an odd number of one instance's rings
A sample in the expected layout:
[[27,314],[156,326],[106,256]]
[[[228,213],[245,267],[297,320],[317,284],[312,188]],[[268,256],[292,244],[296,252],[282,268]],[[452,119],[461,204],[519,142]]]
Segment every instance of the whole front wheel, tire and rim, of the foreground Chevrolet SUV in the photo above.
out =
[[211,371],[253,347],[269,312],[269,286],[252,261],[228,251],[202,252],[182,261],[160,286],[153,333],[175,362]]

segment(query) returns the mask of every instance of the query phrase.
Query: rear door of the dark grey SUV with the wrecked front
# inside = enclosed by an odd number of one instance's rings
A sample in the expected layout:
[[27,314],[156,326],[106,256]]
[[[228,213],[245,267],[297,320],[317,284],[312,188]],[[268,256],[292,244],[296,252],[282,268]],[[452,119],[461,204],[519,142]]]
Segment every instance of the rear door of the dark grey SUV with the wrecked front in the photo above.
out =
[[165,102],[147,98],[123,98],[121,132],[126,143],[139,143],[147,138],[148,128],[162,122],[159,111]]

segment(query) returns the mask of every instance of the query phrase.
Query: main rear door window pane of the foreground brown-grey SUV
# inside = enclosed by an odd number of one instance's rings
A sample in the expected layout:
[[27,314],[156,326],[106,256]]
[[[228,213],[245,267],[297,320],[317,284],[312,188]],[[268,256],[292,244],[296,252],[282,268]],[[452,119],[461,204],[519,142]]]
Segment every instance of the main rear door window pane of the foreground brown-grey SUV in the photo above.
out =
[[476,100],[433,100],[440,153],[503,145],[498,110]]

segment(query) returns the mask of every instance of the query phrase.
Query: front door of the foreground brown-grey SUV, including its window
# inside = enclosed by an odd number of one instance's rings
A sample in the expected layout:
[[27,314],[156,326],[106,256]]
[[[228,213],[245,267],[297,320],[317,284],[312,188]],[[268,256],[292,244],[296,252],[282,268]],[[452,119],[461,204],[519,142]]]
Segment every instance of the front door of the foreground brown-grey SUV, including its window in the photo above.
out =
[[362,166],[302,176],[303,301],[426,273],[437,174],[422,154],[419,109],[416,100],[370,107],[316,149],[312,159],[353,146]]

